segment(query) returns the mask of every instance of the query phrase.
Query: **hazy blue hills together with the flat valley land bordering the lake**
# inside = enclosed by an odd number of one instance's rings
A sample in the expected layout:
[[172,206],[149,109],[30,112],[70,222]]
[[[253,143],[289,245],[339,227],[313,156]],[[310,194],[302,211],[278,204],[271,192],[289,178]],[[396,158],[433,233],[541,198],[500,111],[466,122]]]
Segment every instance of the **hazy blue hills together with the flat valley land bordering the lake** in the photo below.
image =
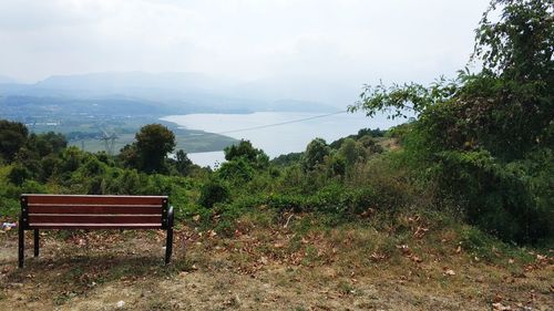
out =
[[[317,102],[230,94],[234,86],[197,73],[105,72],[59,75],[34,84],[0,81],[0,115],[37,133],[59,132],[88,152],[105,151],[104,136],[115,134],[115,152],[131,144],[143,125],[167,115],[193,113],[336,112]],[[224,135],[170,126],[178,148],[215,152],[235,143]],[[203,134],[203,137],[197,136]]]

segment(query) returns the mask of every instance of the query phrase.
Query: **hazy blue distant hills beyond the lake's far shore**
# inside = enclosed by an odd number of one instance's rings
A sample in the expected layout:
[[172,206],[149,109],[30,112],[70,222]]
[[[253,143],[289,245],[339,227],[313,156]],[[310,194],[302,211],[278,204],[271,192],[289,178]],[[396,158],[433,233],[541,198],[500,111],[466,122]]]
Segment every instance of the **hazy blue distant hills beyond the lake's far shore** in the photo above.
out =
[[[8,80],[6,80],[8,81]],[[79,113],[166,115],[188,113],[331,112],[318,102],[263,96],[199,73],[104,72],[55,75],[34,84],[0,83],[0,113],[25,105],[30,113],[63,106]]]

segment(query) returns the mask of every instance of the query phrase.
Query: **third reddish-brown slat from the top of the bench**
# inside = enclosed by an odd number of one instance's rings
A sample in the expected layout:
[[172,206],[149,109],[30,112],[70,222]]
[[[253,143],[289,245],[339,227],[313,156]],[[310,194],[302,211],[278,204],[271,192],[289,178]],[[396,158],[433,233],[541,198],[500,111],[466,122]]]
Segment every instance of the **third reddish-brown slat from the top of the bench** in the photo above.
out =
[[162,224],[162,215],[137,216],[137,215],[106,215],[106,216],[44,216],[29,215],[29,224]]

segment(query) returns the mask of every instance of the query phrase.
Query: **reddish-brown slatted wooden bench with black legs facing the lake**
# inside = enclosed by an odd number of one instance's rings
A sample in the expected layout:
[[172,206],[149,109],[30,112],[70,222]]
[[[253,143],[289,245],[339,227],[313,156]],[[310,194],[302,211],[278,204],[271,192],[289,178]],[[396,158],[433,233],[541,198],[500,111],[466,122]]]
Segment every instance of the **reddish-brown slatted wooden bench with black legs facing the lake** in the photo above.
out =
[[24,261],[24,231],[34,231],[39,256],[41,229],[167,230],[165,263],[173,249],[173,207],[166,196],[21,195],[19,267]]

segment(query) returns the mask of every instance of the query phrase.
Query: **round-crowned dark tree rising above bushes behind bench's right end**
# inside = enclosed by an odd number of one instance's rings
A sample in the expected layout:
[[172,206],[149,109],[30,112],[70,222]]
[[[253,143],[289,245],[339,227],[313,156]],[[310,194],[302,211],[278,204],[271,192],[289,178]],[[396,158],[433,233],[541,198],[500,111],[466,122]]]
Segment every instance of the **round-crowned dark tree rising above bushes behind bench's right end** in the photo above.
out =
[[135,138],[138,168],[146,173],[164,172],[165,158],[175,148],[175,134],[161,124],[148,124]]

